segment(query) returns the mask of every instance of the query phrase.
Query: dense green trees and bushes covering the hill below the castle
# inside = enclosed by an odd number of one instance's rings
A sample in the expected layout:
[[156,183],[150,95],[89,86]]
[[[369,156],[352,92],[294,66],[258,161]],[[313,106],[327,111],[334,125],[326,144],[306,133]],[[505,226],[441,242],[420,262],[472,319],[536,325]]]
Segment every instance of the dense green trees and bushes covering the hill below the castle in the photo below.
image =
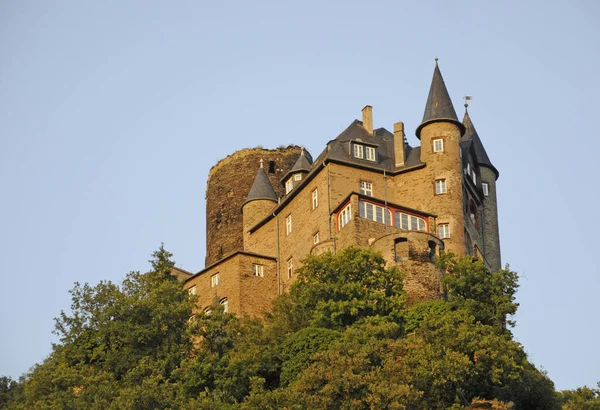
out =
[[512,340],[518,284],[508,269],[444,257],[447,301],[407,306],[402,274],[349,248],[308,258],[260,320],[220,305],[193,315],[171,256],[161,246],[150,272],[120,286],[76,284],[72,312],[56,319],[59,342],[19,383],[2,378],[0,406],[462,409],[489,399],[497,409],[600,408],[597,390],[556,393]]

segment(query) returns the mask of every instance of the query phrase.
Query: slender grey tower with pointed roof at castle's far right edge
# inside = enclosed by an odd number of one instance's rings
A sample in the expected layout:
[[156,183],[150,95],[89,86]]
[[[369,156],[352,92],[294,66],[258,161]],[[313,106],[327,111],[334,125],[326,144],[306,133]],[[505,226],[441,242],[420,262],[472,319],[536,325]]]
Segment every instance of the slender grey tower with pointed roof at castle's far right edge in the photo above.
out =
[[488,156],[483,143],[473,126],[467,105],[465,104],[465,116],[463,118],[465,135],[463,140],[471,140],[475,159],[481,173],[481,187],[483,190],[483,247],[484,256],[493,272],[502,267],[500,257],[500,232],[498,229],[498,203],[496,196],[496,180],[498,170]]

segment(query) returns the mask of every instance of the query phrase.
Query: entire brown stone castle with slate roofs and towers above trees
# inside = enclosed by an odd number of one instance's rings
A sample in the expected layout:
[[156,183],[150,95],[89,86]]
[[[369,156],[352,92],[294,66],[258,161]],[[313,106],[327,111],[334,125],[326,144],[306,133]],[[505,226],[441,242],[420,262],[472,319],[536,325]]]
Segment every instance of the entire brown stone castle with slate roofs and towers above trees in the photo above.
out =
[[366,106],[314,161],[297,146],[255,148],[210,170],[206,268],[175,272],[200,308],[259,315],[307,255],[351,245],[405,272],[409,300],[441,296],[433,258],[442,250],[500,269],[498,171],[466,109],[458,120],[437,59],[420,146],[408,144],[402,122],[392,133],[372,118]]

